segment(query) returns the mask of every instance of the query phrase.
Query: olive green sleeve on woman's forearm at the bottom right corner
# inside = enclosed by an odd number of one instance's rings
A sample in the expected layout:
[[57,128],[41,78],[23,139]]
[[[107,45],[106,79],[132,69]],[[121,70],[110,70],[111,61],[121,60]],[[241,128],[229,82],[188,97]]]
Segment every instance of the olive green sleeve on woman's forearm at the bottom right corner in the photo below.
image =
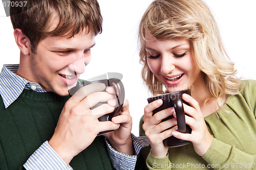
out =
[[216,169],[256,169],[256,155],[249,155],[233,145],[214,139],[206,154],[202,157]]

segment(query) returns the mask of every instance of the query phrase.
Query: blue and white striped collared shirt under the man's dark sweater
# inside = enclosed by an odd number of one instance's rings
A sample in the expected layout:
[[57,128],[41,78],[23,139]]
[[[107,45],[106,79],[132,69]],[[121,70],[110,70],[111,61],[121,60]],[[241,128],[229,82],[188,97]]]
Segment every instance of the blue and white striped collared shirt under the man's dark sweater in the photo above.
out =
[[[19,64],[4,65],[0,74],[0,94],[5,108],[10,106],[24,89],[33,90],[35,92],[47,92],[42,89],[38,83],[29,82],[16,75],[15,73],[18,67]],[[146,137],[136,137],[132,134],[132,139],[136,155],[130,156],[115,151],[111,147],[108,139],[105,138],[111,162],[116,169],[134,169],[140,150],[149,145]],[[40,148],[29,157],[24,167],[26,169],[73,169],[70,165],[66,165],[48,144],[48,141],[44,142]]]

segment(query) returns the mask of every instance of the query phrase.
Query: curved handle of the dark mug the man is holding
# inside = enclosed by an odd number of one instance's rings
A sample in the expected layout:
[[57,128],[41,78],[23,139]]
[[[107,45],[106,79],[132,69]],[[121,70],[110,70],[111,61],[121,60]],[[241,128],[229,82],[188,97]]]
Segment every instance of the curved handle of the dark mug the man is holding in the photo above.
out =
[[116,88],[115,89],[115,93],[116,93],[116,98],[117,98],[117,102],[118,102],[118,106],[115,108],[113,114],[111,114],[109,116],[109,120],[111,121],[112,117],[115,117],[117,116],[122,107],[123,107],[123,102],[124,102],[124,87],[123,87],[123,83],[121,82],[121,80],[119,79],[116,79],[116,78],[111,78],[108,80],[108,85],[109,86],[113,86],[112,83],[114,83],[118,89],[118,92],[116,91]]

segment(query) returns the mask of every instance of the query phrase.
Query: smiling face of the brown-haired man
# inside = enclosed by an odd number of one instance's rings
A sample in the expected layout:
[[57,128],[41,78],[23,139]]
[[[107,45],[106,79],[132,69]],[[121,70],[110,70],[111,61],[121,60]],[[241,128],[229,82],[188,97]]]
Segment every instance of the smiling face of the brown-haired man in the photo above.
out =
[[37,82],[43,89],[61,96],[68,95],[91,59],[91,48],[95,45],[94,32],[85,31],[74,37],[47,37],[40,41],[36,54],[30,53],[27,78]]

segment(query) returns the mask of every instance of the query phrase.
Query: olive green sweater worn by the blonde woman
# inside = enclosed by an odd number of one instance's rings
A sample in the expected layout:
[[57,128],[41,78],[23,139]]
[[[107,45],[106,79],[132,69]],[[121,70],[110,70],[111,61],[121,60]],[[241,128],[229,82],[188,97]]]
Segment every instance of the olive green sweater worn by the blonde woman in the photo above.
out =
[[[142,150],[149,169],[256,169],[256,81],[246,80],[242,91],[229,96],[223,109],[205,117],[210,134],[214,137],[203,157],[197,155],[193,144],[169,148],[168,155],[159,159]],[[143,119],[140,122],[140,135]]]

